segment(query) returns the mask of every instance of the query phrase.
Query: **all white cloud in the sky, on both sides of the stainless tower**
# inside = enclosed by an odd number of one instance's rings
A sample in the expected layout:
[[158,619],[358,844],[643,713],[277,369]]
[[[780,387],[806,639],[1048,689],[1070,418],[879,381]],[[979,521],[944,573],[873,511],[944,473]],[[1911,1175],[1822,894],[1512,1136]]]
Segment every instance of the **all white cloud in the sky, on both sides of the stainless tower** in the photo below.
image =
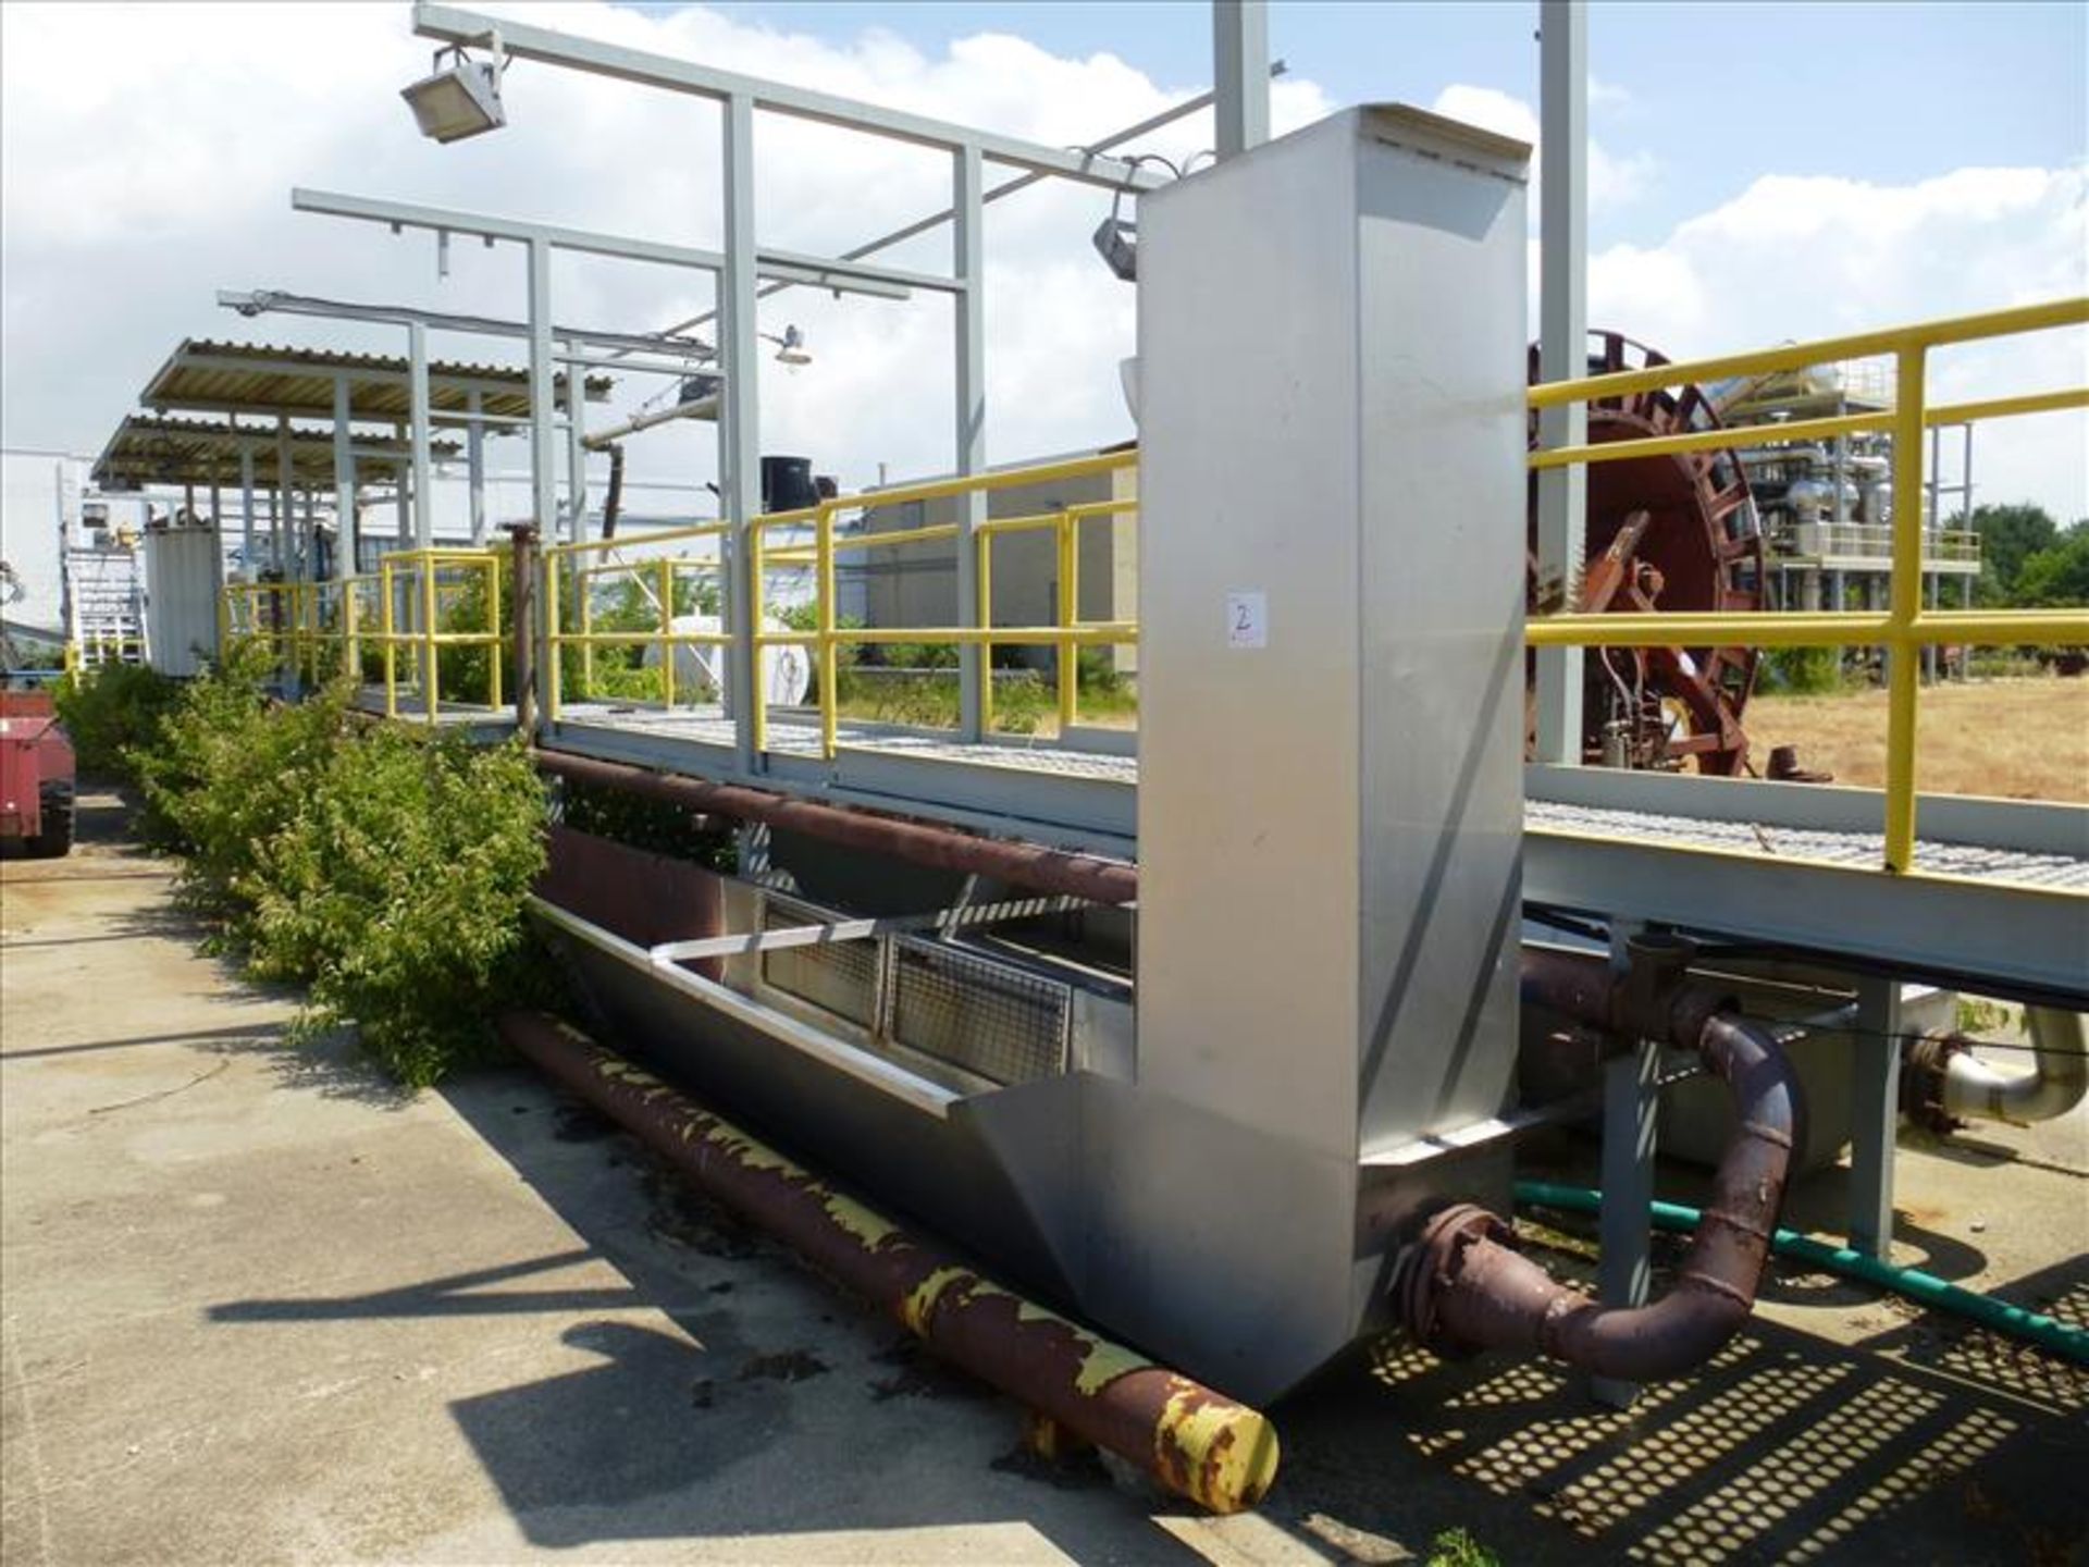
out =
[[[1090,140],[1170,102],[1111,54],[1061,59],[1007,33],[923,54],[888,33],[836,44],[700,6],[660,15],[568,0],[526,15],[1047,144]],[[215,288],[522,313],[512,249],[460,244],[453,276],[437,282],[426,236],[295,215],[292,184],[721,240],[712,107],[518,65],[508,79],[512,125],[439,148],[414,134],[397,96],[426,65],[403,4],[0,4],[6,443],[94,451],[182,336],[401,349],[397,332],[297,318],[244,324],[213,305]],[[1446,88],[1435,107],[1538,134],[1529,104],[1489,88]],[[1312,81],[1274,88],[1278,132],[1329,109]],[[1207,117],[1191,119],[1149,148],[1180,161],[1207,138]],[[798,121],[760,121],[758,169],[762,236],[790,249],[838,251],[948,196],[944,157]],[[1625,205],[1661,173],[1646,153],[1598,144],[1592,201]],[[2083,184],[2081,169],[1964,169],[1909,186],[1765,178],[1659,244],[1594,257],[1592,320],[1682,355],[2083,293]],[[1086,238],[1107,209],[1107,192],[1057,182],[992,207],[994,460],[1128,435],[1116,361],[1132,345],[1134,295],[1105,274]],[[946,244],[932,234],[892,261],[936,267]],[[643,265],[562,261],[556,286],[560,320],[623,330],[710,305],[706,278]],[[785,322],[804,326],[815,364],[798,374],[762,366],[765,447],[808,453],[850,485],[873,478],[879,462],[894,474],[948,466],[942,297],[838,303],[794,290],[765,305],[769,330]],[[439,338],[437,349],[514,359],[512,347],[485,338]],[[1993,351],[1941,355],[1937,374],[1945,397],[2083,378],[2081,334],[2033,341],[2008,376]],[[656,389],[627,382],[602,418]],[[710,474],[706,430],[671,426],[631,451],[635,478]],[[493,447],[495,466],[524,460],[520,443]],[[2070,516],[2089,512],[2079,418],[1995,426],[1976,462],[1991,499],[2033,495]],[[506,491],[501,504],[520,506],[518,495]],[[8,514],[15,554],[25,512]],[[48,512],[27,527],[42,533]]]

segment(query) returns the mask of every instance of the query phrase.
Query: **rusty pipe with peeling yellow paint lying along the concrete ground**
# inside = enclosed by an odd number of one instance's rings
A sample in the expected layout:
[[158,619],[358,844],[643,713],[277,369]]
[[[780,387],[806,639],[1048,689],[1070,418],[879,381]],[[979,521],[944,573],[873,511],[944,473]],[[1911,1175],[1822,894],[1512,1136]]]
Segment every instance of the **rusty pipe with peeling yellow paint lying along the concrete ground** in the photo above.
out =
[[510,1011],[501,1038],[973,1377],[1214,1513],[1268,1492],[1276,1431],[1258,1410],[1003,1289],[568,1024]]

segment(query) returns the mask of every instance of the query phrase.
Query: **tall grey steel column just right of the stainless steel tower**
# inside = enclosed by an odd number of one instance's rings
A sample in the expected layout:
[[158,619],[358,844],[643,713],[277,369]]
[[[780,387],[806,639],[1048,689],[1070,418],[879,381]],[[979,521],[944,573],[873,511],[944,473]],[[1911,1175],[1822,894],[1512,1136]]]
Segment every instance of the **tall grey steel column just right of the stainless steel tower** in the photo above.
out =
[[[1588,374],[1588,4],[1544,0],[1540,10],[1538,370],[1544,380]],[[1548,447],[1588,441],[1588,405],[1538,416]],[[1538,568],[1569,587],[1588,558],[1588,468],[1538,474]],[[1569,606],[1577,608],[1577,606]],[[1581,761],[1581,650],[1538,652],[1538,761]]]

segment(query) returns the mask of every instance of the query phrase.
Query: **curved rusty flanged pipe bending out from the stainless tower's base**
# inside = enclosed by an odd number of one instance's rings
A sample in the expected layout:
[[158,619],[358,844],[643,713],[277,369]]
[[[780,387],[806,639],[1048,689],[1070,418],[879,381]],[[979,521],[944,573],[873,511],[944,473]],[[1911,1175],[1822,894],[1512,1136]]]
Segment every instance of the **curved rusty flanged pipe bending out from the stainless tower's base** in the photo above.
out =
[[[1657,1302],[1600,1306],[1515,1249],[1508,1224],[1460,1203],[1435,1214],[1400,1279],[1408,1327],[1452,1352],[1521,1350],[1617,1381],[1661,1381],[1705,1364],[1755,1308],[1790,1170],[1799,1086],[1778,1043],[1732,1003],[1686,982],[1663,946],[1654,980],[1604,959],[1525,953],[1525,999],[1638,1038],[1671,1038],[1728,1084],[1740,1126],[1675,1285]],[[1642,961],[1642,976],[1648,963]]]

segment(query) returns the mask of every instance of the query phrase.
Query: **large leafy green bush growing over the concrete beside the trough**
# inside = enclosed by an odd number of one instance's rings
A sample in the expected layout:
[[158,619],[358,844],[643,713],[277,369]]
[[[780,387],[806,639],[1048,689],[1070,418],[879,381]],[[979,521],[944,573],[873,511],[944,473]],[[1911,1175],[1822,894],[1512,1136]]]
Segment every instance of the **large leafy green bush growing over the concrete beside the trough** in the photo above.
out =
[[422,1086],[491,1043],[497,999],[543,984],[522,901],[543,788],[520,746],[359,721],[349,687],[299,704],[251,650],[188,685],[132,752],[182,892],[253,974],[309,986],[301,1032],[353,1022]]

